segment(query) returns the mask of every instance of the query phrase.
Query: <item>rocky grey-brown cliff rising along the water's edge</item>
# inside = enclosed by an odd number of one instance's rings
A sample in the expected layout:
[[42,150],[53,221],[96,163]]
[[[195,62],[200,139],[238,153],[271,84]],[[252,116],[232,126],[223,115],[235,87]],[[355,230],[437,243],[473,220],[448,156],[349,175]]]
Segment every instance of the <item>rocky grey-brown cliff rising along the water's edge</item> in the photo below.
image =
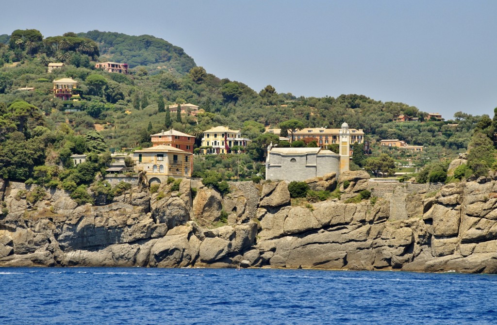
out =
[[[63,190],[0,180],[0,266],[497,272],[494,178],[434,191],[368,178],[310,179],[315,190],[341,192],[318,203],[292,202],[284,182],[232,183],[222,197],[184,179],[179,190],[162,184],[151,194],[141,183],[97,206],[79,206]],[[377,196],[357,199],[365,189]]]

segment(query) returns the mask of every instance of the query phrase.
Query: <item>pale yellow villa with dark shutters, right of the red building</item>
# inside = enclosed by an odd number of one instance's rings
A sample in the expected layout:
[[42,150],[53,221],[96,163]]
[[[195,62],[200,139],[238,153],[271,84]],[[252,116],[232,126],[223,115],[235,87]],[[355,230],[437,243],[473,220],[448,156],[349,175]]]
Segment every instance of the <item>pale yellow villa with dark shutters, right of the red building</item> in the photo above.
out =
[[216,126],[204,131],[202,154],[228,154],[234,146],[247,147],[250,139],[242,138],[240,130],[226,126]]

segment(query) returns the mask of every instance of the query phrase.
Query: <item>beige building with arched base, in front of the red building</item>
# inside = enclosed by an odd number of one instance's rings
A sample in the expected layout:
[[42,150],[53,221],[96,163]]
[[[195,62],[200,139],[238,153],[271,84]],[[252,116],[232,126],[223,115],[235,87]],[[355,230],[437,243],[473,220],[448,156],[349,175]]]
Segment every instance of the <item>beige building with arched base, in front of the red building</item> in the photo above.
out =
[[149,183],[162,183],[167,177],[190,177],[193,154],[168,145],[159,145],[133,153],[135,169],[147,172]]

